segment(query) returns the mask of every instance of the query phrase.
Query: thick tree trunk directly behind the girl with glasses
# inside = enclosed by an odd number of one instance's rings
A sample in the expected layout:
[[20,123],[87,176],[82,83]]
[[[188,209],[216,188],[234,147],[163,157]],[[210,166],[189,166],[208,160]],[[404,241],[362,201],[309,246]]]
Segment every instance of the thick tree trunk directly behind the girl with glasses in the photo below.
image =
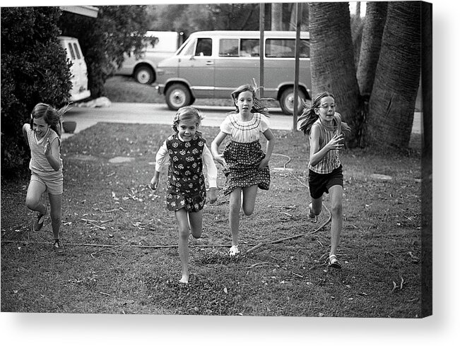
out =
[[334,95],[337,112],[352,129],[346,141],[355,146],[361,112],[348,3],[309,3],[309,32],[312,97],[323,91]]

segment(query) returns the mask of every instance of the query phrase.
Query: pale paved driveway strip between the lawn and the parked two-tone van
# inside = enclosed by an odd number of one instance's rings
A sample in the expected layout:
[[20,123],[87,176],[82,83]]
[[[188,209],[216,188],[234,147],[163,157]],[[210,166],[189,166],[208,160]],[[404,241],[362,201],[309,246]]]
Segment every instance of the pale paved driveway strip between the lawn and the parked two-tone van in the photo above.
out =
[[[233,107],[196,106],[203,112],[205,118],[201,126],[220,126],[225,114],[231,112]],[[281,108],[269,108],[271,114],[270,127],[276,130],[293,129],[293,117],[283,114]],[[125,124],[172,124],[175,111],[171,111],[166,105],[158,103],[128,103],[112,102],[110,107],[73,107],[64,115],[64,121],[76,121],[74,133],[87,129],[98,122],[125,123]],[[413,133],[420,133],[420,112],[415,112]],[[63,133],[66,139],[72,133]]]

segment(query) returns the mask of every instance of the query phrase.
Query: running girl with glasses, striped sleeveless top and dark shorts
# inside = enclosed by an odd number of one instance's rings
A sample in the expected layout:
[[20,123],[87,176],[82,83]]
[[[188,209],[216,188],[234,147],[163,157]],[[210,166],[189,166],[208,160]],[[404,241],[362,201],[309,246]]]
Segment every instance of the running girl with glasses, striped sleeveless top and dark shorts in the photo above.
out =
[[334,95],[319,93],[310,107],[298,119],[299,128],[309,136],[308,184],[311,203],[308,216],[317,222],[322,210],[323,193],[331,196],[331,251],[328,264],[341,268],[337,259],[337,246],[342,229],[343,174],[338,150],[343,148],[343,132],[350,132],[350,126],[341,120],[336,112]]

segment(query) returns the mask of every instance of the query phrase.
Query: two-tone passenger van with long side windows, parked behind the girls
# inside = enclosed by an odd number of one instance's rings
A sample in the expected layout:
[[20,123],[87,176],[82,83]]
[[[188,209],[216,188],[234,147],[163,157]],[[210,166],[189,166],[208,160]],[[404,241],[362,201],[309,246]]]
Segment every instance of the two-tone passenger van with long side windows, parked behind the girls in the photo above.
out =
[[[295,31],[264,31],[264,97],[293,114]],[[238,86],[259,83],[259,31],[192,33],[175,55],[158,64],[156,86],[170,109],[196,98],[229,98]],[[310,99],[309,32],[300,33],[299,97]],[[298,100],[299,110],[302,102]]]

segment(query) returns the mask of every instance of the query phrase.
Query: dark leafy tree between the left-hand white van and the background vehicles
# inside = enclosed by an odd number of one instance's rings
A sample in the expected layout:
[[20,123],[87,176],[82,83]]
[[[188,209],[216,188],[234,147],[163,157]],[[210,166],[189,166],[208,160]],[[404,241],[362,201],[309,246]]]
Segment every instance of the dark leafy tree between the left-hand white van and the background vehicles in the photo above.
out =
[[92,97],[104,95],[105,80],[122,64],[125,52],[141,51],[150,22],[145,5],[98,8],[98,18],[64,13],[59,20],[63,34],[78,37],[80,41]]

